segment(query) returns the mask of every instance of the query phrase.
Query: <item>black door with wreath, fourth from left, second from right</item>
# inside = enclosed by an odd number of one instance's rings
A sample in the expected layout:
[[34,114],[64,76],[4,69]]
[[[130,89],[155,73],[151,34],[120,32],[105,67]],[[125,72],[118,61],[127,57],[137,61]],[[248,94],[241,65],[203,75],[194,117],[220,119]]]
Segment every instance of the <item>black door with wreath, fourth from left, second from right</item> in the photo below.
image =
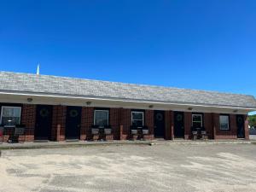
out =
[[174,112],[174,137],[184,137],[183,112]]

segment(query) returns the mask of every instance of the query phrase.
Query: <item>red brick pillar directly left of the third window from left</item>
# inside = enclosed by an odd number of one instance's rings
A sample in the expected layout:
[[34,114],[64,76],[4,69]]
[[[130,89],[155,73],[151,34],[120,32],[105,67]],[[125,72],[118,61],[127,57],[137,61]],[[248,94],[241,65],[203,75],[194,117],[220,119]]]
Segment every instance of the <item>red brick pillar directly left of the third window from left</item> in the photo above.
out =
[[[119,119],[120,125],[123,125],[122,132],[120,132],[120,140],[130,139],[131,137],[131,109],[120,108]],[[120,126],[121,128],[121,126]]]

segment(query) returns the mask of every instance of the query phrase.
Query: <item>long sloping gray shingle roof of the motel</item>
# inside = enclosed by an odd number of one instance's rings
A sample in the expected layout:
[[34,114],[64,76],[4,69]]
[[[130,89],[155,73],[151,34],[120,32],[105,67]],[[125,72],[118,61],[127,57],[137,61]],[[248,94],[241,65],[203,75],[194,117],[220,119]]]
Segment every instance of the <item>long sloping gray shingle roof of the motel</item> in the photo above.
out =
[[146,102],[256,108],[255,98],[247,95],[89,79],[72,79],[29,73],[0,72],[0,90],[67,96],[107,97]]

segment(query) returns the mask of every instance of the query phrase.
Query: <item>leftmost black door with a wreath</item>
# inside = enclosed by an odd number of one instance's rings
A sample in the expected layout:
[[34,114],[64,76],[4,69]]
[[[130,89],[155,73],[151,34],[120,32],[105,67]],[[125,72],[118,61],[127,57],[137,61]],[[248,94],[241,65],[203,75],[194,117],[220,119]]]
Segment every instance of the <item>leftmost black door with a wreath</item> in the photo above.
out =
[[52,106],[38,105],[35,140],[49,140],[52,125]]

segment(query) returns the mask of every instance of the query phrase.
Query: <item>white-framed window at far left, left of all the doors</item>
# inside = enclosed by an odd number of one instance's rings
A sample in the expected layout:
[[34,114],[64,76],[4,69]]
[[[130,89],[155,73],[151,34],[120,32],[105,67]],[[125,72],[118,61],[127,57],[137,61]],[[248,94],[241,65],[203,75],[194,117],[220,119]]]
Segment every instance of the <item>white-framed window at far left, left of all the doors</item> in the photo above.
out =
[[5,126],[14,126],[20,124],[20,107],[3,106],[1,111],[1,124]]

